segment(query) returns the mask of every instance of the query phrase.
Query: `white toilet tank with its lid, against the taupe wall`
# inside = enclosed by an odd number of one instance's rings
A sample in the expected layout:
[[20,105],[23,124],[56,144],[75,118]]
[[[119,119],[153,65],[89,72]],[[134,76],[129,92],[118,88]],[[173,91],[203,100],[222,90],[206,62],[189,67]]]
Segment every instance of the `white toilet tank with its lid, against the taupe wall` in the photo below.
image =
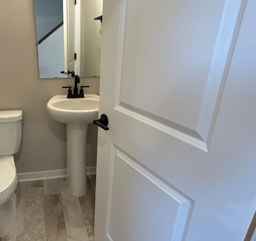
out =
[[22,137],[22,110],[0,111],[0,156],[18,152]]

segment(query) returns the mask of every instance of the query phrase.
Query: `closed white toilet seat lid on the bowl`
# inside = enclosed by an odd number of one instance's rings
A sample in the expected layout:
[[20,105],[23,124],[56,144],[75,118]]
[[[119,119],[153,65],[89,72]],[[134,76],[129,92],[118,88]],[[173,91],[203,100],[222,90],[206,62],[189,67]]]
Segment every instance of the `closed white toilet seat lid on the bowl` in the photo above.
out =
[[16,171],[8,161],[0,161],[0,194],[15,181]]

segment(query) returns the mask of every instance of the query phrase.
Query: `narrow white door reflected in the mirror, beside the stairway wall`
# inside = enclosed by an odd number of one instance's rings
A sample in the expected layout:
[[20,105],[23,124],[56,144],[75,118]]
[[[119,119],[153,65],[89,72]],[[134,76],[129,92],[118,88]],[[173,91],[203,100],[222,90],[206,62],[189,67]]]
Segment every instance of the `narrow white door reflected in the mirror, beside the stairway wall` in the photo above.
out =
[[[75,4],[74,0],[63,0],[64,66],[65,73],[75,71]],[[66,77],[71,77],[71,74]]]

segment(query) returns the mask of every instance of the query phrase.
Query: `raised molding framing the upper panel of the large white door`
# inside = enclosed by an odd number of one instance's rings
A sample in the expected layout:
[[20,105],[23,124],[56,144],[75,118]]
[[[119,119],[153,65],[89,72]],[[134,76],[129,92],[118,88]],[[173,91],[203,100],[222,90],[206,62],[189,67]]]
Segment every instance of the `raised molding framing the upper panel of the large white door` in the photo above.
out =
[[[247,0],[224,1],[197,126],[190,129],[122,102],[122,75],[129,0],[120,1],[114,109],[208,152]],[[154,116],[154,118],[152,118]],[[158,119],[158,120],[156,120]],[[159,121],[161,119],[161,121]],[[165,121],[163,121],[165,120]],[[167,123],[167,122],[168,123]]]

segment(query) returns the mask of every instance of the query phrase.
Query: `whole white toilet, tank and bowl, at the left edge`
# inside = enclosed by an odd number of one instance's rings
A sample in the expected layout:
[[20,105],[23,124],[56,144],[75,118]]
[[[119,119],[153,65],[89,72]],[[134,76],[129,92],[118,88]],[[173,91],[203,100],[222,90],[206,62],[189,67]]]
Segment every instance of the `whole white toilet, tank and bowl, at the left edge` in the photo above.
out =
[[22,136],[22,110],[0,111],[0,238],[7,235],[16,218],[18,178],[13,154]]

